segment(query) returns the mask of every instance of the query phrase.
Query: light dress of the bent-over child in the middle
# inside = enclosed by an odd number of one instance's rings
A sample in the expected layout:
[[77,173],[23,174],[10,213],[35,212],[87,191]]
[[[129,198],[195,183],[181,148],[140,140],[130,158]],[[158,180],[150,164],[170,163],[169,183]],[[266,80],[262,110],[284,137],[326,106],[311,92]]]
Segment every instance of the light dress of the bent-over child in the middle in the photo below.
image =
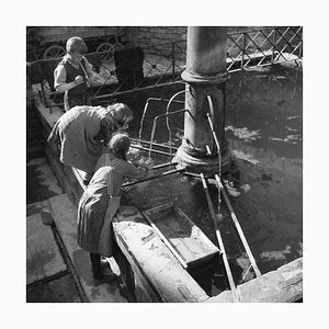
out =
[[[55,124],[48,141],[60,144],[60,161],[88,173],[93,173],[103,151],[101,128],[106,122],[111,136],[115,124],[102,106],[76,106],[64,113]],[[106,137],[106,136],[105,136]]]

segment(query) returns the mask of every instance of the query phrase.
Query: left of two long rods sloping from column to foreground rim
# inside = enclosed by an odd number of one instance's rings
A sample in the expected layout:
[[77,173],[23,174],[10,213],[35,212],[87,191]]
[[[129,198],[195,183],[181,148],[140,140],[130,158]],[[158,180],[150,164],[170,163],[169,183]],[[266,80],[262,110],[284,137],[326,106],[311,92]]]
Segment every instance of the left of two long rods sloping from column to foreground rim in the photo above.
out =
[[222,239],[222,236],[220,236],[219,227],[217,225],[217,217],[216,217],[214,205],[213,205],[213,202],[212,202],[212,198],[211,198],[211,195],[209,195],[207,182],[206,182],[206,179],[204,177],[204,173],[201,173],[200,177],[201,177],[203,189],[204,189],[207,202],[208,202],[208,207],[209,207],[209,211],[211,211],[211,215],[212,215],[212,218],[213,218],[213,222],[214,222],[214,225],[215,225],[217,241],[218,241],[220,251],[223,252],[223,261],[224,261],[225,270],[226,270],[226,273],[227,273],[228,283],[229,283],[229,286],[230,286],[230,290],[231,290],[231,293],[232,293],[234,302],[239,302],[237,287],[236,287],[236,284],[234,282],[234,279],[232,279],[232,274],[231,274],[231,271],[230,271],[230,268],[229,268],[229,263],[228,263],[227,254],[226,254],[226,251],[225,251],[224,242],[223,242],[223,239]]

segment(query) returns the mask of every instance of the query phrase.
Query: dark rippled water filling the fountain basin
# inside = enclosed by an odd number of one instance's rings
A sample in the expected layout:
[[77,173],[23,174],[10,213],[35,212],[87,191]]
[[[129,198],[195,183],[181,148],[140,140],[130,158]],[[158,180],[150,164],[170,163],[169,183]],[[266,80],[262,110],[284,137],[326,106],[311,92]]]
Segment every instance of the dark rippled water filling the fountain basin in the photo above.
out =
[[[303,98],[302,71],[276,66],[234,73],[227,84],[226,137],[235,160],[223,179],[249,247],[262,273],[303,256]],[[170,99],[182,86],[122,99],[135,113],[131,135],[138,138],[139,121],[149,97]],[[178,98],[183,100],[183,95]],[[143,139],[150,140],[152,120],[167,103],[152,102],[145,115]],[[172,104],[170,111],[182,110]],[[172,143],[183,136],[183,114],[170,120]],[[154,141],[168,145],[166,120],[159,121]],[[135,152],[132,158],[148,157]],[[154,163],[168,158],[152,156]],[[166,171],[168,169],[161,169]],[[158,172],[157,172],[158,173]],[[209,186],[215,209],[217,189]],[[134,185],[123,202],[147,209],[174,201],[216,243],[214,225],[198,180],[180,174]],[[236,284],[253,277],[250,262],[222,201],[220,232]],[[209,295],[228,287],[219,262],[192,273]]]

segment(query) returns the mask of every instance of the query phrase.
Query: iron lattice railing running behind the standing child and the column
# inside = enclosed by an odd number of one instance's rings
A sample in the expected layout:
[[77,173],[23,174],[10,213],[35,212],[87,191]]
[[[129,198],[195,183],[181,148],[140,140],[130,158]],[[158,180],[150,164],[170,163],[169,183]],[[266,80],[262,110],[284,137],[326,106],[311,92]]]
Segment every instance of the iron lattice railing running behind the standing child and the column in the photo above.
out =
[[[182,81],[185,69],[186,42],[174,42],[116,52],[91,53],[87,57],[101,77],[93,87],[94,103],[125,93],[134,93]],[[132,55],[133,53],[133,55]],[[113,55],[113,54],[112,54]],[[296,63],[303,57],[303,27],[277,26],[229,33],[227,35],[227,70],[236,72],[276,63]],[[110,58],[110,60],[109,60]],[[125,60],[126,59],[126,60]],[[53,71],[60,58],[38,60],[42,92],[47,99],[55,97],[60,105],[60,94],[53,89]],[[300,60],[299,60],[300,61]],[[58,101],[59,99],[59,101]]]

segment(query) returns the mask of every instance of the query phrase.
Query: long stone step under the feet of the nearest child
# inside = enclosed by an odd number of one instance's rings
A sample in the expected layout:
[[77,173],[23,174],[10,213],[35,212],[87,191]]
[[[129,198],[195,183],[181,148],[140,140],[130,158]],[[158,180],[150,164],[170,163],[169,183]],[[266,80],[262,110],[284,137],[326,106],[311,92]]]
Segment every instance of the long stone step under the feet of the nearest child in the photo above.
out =
[[94,285],[89,253],[77,243],[77,207],[66,194],[49,198],[54,212],[54,220],[68,254],[79,273],[79,280],[90,302],[126,303],[121,295],[117,282]]

